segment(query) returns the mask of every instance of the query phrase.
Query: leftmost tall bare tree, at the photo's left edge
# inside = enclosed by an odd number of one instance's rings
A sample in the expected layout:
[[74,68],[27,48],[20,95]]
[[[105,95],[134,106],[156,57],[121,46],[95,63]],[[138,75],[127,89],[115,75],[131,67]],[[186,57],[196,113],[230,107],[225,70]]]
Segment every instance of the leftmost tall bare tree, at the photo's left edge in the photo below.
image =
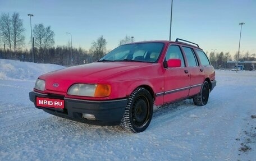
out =
[[2,13],[0,17],[0,30],[2,31],[2,40],[4,44],[7,44],[8,48],[12,52],[11,43],[11,19],[9,13]]

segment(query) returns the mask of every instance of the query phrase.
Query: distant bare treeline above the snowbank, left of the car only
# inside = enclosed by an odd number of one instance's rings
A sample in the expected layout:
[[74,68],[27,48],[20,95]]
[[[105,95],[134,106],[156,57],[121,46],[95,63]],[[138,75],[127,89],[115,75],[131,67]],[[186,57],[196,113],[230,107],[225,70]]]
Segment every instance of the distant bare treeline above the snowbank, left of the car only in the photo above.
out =
[[[53,63],[62,66],[81,65],[84,63],[91,63],[97,61],[104,54],[106,54],[106,39],[100,36],[96,41],[93,41],[92,47],[89,50],[82,48],[57,46],[48,48],[34,48],[34,62],[36,63]],[[18,59],[20,61],[32,62],[31,50],[19,50],[16,55],[7,48],[0,49],[0,58],[4,59]],[[72,61],[72,62],[71,62]]]

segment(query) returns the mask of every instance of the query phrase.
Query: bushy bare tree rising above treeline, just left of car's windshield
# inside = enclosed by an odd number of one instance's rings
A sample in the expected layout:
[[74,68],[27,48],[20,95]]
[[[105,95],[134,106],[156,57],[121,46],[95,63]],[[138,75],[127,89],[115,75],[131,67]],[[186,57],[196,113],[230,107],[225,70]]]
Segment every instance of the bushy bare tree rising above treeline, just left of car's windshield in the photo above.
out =
[[106,39],[103,38],[103,35],[100,36],[96,42],[93,41],[90,53],[93,54],[94,61],[97,61],[106,54],[106,45],[107,42]]

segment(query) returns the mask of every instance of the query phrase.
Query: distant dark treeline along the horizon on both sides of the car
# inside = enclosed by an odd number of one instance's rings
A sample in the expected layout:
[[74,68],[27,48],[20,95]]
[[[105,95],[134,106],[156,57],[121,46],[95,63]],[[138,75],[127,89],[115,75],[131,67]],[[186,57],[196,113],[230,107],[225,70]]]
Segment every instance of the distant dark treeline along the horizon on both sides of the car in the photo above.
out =
[[[121,41],[120,41],[121,42]],[[129,42],[126,42],[129,43]],[[92,63],[101,58],[106,54],[106,39],[103,36],[93,41],[92,47],[89,50],[84,50],[83,48],[72,48],[73,65],[81,65],[84,63]],[[63,45],[57,47],[47,48],[44,51],[44,56],[39,54],[39,49],[35,48],[35,58],[36,63],[54,63],[62,66],[71,65],[71,47],[70,45]],[[212,66],[216,69],[220,68],[234,68],[234,63],[227,63],[227,61],[236,61],[237,53],[232,58],[230,53],[207,53],[209,61]],[[18,50],[16,56],[10,49],[0,49],[0,58],[4,59],[19,59],[20,61],[32,62],[32,52],[31,50]],[[246,52],[245,54],[240,54],[239,61],[256,61],[255,54],[250,54]],[[245,64],[245,68],[250,68],[250,64]]]

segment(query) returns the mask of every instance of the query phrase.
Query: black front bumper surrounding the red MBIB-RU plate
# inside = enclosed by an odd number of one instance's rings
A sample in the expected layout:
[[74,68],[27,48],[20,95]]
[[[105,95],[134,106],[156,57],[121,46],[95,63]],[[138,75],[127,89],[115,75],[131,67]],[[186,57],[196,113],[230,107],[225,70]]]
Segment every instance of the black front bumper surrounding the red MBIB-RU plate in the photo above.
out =
[[[65,106],[63,109],[36,107],[36,97],[64,99]],[[119,125],[127,103],[127,99],[90,101],[60,98],[59,96],[40,94],[34,91],[29,93],[29,99],[36,108],[43,109],[47,113],[92,125]],[[93,114],[95,120],[83,118],[83,113]]]

